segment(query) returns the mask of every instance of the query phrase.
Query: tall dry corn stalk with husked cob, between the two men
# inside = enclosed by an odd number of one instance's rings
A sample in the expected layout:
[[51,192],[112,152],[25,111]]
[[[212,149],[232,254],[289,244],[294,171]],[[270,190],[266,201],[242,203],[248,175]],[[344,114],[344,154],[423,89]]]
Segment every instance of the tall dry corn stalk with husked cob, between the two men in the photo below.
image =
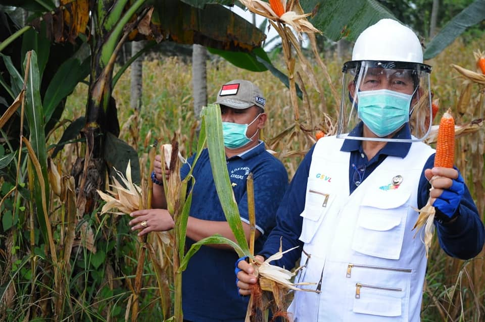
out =
[[[260,0],[239,1],[251,12],[268,18],[271,26],[281,37],[283,58],[288,73],[289,97],[293,107],[295,124],[277,134],[274,138],[268,140],[268,146],[272,150],[277,150],[280,146],[282,151],[279,154],[278,152],[275,152],[280,158],[288,155],[302,155],[305,153],[305,151],[303,151],[304,147],[316,142],[314,133],[322,131],[325,135],[332,135],[336,130],[336,127],[333,125],[334,122],[332,122],[327,115],[328,108],[325,102],[323,87],[317,81],[318,78],[316,77],[312,64],[308,61],[305,55],[303,55],[301,43],[299,41],[302,39],[302,33],[308,34],[312,45],[312,52],[318,62],[318,66],[321,68],[323,75],[325,75],[326,80],[328,81],[332,96],[335,100],[335,108],[333,110],[337,111],[340,99],[338,98],[327,68],[321,60],[316,46],[315,33],[321,32],[308,22],[306,17],[310,14],[305,14],[303,12],[299,1],[281,1],[281,6],[279,3],[280,0],[270,2],[271,5]],[[284,9],[282,14],[280,14],[281,8]],[[297,33],[298,39],[294,32]],[[301,69],[301,71],[299,69]],[[302,77],[302,74],[305,78]],[[297,83],[303,93],[303,107],[307,114],[306,119],[308,121],[304,122],[300,119],[300,103],[297,94]],[[320,98],[320,106],[318,109],[320,112],[319,115],[322,118],[320,122],[318,122],[318,118],[313,117],[313,109],[312,106],[310,106],[309,89],[315,90]],[[300,145],[301,150],[288,151],[288,146],[295,148],[296,140],[298,140],[298,145]],[[292,144],[288,144],[288,142],[292,142]]]

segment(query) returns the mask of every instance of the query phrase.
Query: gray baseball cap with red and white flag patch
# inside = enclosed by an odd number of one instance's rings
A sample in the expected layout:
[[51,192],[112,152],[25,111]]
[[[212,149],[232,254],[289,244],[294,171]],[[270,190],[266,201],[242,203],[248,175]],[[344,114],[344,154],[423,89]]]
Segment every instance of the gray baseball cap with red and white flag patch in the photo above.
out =
[[264,109],[266,98],[264,98],[258,86],[252,82],[235,79],[222,85],[217,95],[216,104],[239,110],[250,108],[253,105]]

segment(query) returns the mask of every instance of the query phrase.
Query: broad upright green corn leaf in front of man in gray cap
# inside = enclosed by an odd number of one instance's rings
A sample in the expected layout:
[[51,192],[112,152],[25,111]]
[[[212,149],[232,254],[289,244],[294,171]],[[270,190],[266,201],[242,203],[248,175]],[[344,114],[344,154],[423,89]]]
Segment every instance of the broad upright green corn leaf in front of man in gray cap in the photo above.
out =
[[222,210],[234,237],[245,255],[249,255],[248,241],[241,223],[239,209],[237,208],[232,191],[229,173],[227,172],[224,140],[222,138],[221,110],[217,104],[208,104],[202,112],[205,121],[207,147],[211,160],[212,174]]

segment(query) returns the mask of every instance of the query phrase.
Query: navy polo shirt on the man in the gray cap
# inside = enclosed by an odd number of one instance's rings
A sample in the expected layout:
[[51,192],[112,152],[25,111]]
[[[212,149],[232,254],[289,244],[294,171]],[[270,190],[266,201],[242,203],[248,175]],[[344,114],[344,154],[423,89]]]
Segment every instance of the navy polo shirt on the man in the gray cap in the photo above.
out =
[[[194,156],[188,159],[192,164]],[[181,169],[184,178],[188,164]],[[255,242],[260,251],[269,231],[275,226],[278,204],[288,186],[283,164],[260,142],[245,153],[227,159],[227,170],[239,208],[241,220],[249,224],[246,179],[253,173],[256,228],[261,236]],[[192,172],[193,185],[190,216],[209,221],[226,221],[219,202],[209,153],[204,149]],[[194,243],[187,238],[187,249]],[[194,322],[243,322],[248,297],[238,295],[234,278],[234,263],[238,259],[233,250],[202,246],[193,255],[182,275],[182,308],[184,319]]]

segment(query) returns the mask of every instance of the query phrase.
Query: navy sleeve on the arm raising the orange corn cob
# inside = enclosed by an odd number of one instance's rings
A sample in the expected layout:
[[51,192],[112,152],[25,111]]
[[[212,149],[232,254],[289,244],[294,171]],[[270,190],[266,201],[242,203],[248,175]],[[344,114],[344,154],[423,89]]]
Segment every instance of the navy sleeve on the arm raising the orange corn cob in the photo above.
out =
[[[424,170],[431,169],[434,165],[434,154],[431,155],[424,165],[421,179],[419,181],[418,207],[422,208],[429,198],[431,185],[424,177]],[[438,240],[441,248],[450,256],[460,259],[469,259],[476,256],[483,248],[485,241],[485,229],[480,220],[475,202],[465,185],[465,193],[461,199],[460,206],[455,213],[456,220],[447,223],[446,215],[438,209],[434,221],[437,228]]]

